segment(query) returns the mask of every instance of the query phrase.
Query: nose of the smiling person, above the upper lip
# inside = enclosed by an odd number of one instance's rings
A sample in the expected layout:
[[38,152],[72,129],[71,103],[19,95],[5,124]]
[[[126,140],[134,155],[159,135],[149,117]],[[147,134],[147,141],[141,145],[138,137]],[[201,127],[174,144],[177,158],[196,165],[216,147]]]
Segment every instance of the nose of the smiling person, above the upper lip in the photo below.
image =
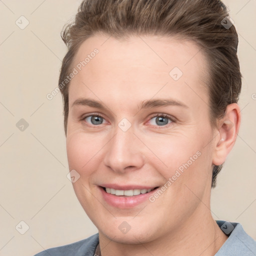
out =
[[105,147],[104,164],[119,173],[141,168],[144,163],[143,144],[133,134],[133,129],[123,131],[117,126],[114,134]]

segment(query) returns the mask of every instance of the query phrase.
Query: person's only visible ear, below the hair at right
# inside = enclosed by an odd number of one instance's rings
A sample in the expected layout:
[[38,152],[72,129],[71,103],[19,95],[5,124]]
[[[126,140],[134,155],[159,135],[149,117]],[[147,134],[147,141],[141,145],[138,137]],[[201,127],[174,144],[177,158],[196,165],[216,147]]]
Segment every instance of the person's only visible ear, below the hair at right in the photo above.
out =
[[217,125],[217,136],[213,144],[213,164],[220,165],[225,161],[236,140],[240,122],[241,114],[238,104],[227,105],[225,116],[218,121]]

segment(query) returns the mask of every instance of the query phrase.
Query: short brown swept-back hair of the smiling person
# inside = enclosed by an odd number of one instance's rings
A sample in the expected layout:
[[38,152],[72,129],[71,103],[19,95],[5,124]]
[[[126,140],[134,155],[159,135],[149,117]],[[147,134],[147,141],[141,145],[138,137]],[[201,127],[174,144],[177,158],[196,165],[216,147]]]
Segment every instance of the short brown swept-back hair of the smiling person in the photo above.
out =
[[[74,22],[64,26],[61,33],[68,47],[59,74],[65,134],[69,82],[63,86],[63,81],[71,71],[80,44],[96,32],[115,38],[177,35],[195,41],[209,61],[209,112],[215,126],[216,120],[224,116],[226,106],[238,101],[241,90],[238,36],[233,25],[224,26],[227,22],[230,23],[228,12],[220,0],[83,0]],[[221,168],[222,164],[213,166],[212,188]]]

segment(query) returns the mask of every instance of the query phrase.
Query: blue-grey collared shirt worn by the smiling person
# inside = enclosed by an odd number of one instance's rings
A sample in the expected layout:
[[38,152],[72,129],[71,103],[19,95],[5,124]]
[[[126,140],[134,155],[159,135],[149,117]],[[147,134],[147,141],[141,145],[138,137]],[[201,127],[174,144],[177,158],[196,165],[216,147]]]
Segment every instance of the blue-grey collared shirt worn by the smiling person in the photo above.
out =
[[[228,238],[215,256],[256,256],[256,241],[243,230],[240,223],[216,222]],[[94,256],[97,245],[98,233],[78,242],[46,249],[34,256]]]

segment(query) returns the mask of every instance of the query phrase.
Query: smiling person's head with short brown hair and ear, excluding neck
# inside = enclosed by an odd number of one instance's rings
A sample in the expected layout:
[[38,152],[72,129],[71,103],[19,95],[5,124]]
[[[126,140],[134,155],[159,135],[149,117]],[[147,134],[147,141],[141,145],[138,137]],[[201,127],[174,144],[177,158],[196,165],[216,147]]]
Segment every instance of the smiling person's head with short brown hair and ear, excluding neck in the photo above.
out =
[[[198,211],[198,198],[209,200],[240,120],[238,39],[222,25],[227,15],[219,0],[84,0],[64,28],[68,163],[80,175],[81,205],[103,232],[127,222],[130,233],[153,239]],[[107,184],[158,190],[116,207],[102,197]],[[136,229],[142,219],[151,231]],[[109,236],[117,233],[123,240],[117,229]]]

